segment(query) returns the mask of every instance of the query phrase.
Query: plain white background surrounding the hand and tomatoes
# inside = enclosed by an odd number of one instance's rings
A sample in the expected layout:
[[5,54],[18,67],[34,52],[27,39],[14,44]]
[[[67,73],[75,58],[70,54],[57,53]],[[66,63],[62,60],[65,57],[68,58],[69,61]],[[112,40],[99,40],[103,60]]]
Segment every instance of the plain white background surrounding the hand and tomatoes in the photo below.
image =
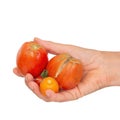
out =
[[44,102],[15,76],[18,48],[40,37],[120,51],[119,0],[0,0],[0,120],[120,120],[120,87],[71,102]]

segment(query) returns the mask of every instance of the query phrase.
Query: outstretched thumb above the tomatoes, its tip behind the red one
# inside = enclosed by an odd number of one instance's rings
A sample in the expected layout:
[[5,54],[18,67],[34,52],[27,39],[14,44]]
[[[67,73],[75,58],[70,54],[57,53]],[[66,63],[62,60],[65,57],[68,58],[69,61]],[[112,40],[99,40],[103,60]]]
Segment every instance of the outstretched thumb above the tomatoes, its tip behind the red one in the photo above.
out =
[[69,45],[45,41],[39,38],[34,38],[34,41],[44,46],[52,54],[70,53]]

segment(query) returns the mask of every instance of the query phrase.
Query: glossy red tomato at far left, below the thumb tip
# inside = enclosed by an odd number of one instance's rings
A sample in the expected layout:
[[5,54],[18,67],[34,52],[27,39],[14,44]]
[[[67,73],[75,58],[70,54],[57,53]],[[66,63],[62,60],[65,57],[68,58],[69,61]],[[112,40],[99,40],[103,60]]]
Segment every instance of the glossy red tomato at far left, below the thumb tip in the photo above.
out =
[[48,63],[47,51],[34,41],[25,42],[17,53],[16,64],[23,75],[37,77]]

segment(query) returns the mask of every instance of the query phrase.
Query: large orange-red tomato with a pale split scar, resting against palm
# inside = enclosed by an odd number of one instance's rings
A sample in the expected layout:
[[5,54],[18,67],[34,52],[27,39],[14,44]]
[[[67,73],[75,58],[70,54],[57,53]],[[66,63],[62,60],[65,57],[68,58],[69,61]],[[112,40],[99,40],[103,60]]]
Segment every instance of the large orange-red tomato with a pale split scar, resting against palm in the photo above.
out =
[[74,88],[82,79],[83,66],[80,60],[63,53],[54,56],[47,64],[48,76],[55,78],[61,89]]

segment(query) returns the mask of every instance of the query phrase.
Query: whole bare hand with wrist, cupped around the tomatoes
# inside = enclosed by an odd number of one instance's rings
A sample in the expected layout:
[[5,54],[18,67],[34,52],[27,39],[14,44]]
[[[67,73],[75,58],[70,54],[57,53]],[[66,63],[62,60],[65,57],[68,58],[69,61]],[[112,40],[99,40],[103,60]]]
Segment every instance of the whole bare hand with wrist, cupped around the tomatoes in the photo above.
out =
[[[27,74],[25,76],[25,83],[39,98],[45,101],[70,101],[104,87],[120,85],[120,80],[118,80],[118,77],[120,78],[118,72],[119,67],[117,67],[118,64],[120,64],[120,58],[118,58],[119,53],[103,52],[73,45],[53,43],[39,38],[35,38],[34,41],[44,46],[51,54],[69,53],[71,56],[80,59],[84,67],[84,75],[78,86],[74,89],[59,93],[48,90],[46,92],[47,97],[41,95],[39,86],[34,82],[33,76]],[[117,63],[115,61],[117,61]],[[16,75],[21,76],[17,68],[14,68],[13,71]]]

